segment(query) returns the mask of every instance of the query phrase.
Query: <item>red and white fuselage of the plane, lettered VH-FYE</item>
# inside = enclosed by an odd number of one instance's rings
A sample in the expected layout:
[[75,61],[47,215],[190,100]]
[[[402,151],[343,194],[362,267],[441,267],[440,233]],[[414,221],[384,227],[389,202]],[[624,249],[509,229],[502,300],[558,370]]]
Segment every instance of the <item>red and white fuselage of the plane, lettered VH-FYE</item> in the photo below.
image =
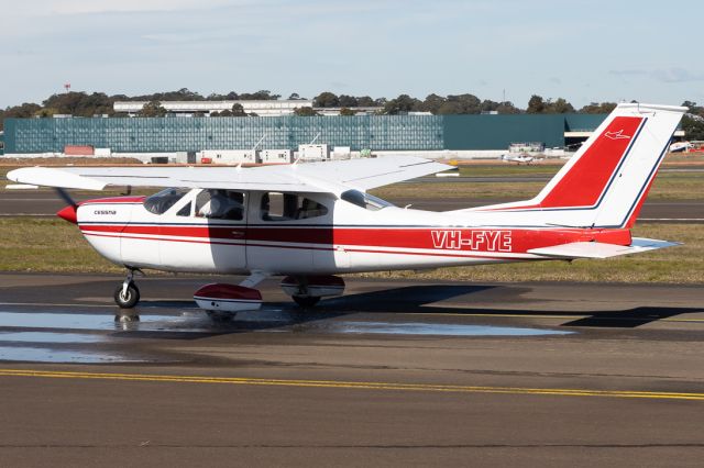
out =
[[77,222],[116,264],[209,274],[424,269],[546,259],[528,250],[571,242],[630,243],[624,229],[558,227],[535,214],[491,210],[402,209],[358,191],[167,189],[84,202]]

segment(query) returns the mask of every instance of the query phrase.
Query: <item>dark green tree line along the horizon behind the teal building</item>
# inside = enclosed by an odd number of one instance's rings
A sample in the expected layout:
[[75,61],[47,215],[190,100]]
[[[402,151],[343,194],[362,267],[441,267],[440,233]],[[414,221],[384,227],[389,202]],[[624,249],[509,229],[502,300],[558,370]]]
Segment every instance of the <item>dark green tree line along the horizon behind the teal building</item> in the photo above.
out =
[[[35,118],[52,116],[55,114],[68,114],[74,116],[124,116],[114,112],[113,104],[116,101],[147,101],[139,115],[141,116],[163,116],[167,111],[160,104],[161,101],[229,101],[229,100],[278,100],[280,94],[272,93],[268,90],[260,90],[256,92],[238,93],[234,91],[226,94],[211,93],[202,96],[198,92],[182,88],[176,91],[156,92],[142,96],[113,94],[108,96],[103,92],[65,92],[53,94],[41,104],[25,102],[20,105],[0,109],[0,130],[3,127],[4,119],[9,118]],[[288,100],[305,100],[294,92]],[[395,115],[408,112],[429,112],[435,115],[449,114],[480,114],[485,112],[496,112],[499,114],[557,114],[557,113],[608,113],[615,107],[615,102],[592,102],[580,109],[575,109],[564,98],[546,99],[541,96],[534,94],[528,100],[525,109],[516,107],[510,101],[492,101],[488,99],[480,99],[474,94],[448,94],[440,96],[436,93],[428,94],[425,99],[414,98],[409,94],[400,94],[394,99],[372,98],[370,96],[348,96],[336,94],[330,91],[323,91],[314,99],[314,108],[339,108],[342,115],[354,115],[359,108],[377,108],[375,112],[380,114]],[[704,140],[704,108],[696,105],[696,102],[685,101],[682,105],[690,108],[690,115],[685,115],[682,120],[682,127],[685,130],[688,137],[691,140]],[[297,115],[316,115],[315,109],[309,107],[297,108]],[[231,110],[216,112],[212,116],[245,116],[244,109],[241,104],[234,104]],[[249,115],[253,115],[250,113]]]

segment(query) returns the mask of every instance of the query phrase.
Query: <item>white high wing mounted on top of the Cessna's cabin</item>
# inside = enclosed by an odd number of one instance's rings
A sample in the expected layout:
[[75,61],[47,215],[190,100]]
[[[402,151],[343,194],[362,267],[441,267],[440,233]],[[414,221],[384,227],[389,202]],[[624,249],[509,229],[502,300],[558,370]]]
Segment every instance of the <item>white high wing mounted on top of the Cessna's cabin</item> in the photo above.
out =
[[28,167],[8,172],[8,179],[84,190],[132,186],[340,193],[351,188],[369,190],[448,169],[452,166],[415,156],[386,156],[254,168]]

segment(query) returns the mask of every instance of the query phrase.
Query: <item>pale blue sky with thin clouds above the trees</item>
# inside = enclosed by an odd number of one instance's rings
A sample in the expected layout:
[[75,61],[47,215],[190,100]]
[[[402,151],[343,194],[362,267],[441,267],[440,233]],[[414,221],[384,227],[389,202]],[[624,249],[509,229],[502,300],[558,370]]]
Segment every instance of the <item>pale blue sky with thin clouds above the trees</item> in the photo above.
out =
[[0,108],[72,90],[704,103],[704,2],[0,0]]

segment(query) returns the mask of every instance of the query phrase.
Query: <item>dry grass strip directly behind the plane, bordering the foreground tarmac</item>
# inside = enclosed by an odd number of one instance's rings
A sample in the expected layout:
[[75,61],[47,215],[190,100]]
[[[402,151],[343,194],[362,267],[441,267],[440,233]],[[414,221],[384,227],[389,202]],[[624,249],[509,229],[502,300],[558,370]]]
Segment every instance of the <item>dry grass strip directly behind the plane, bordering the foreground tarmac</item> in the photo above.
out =
[[[363,275],[464,281],[616,281],[704,283],[704,236],[696,224],[642,224],[634,235],[684,245],[606,260],[510,265]],[[121,272],[100,257],[75,225],[57,219],[0,220],[0,271]]]

